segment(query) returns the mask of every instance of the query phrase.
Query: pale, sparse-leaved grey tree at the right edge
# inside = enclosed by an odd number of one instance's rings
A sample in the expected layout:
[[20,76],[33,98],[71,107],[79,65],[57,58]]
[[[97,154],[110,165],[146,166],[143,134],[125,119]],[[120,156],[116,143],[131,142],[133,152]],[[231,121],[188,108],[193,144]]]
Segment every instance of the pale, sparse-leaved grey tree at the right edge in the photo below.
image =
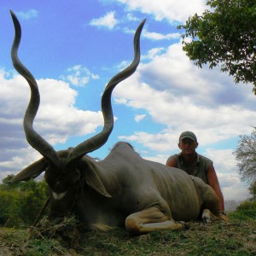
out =
[[256,128],[250,136],[240,136],[234,154],[241,179],[247,180],[249,183],[256,181]]

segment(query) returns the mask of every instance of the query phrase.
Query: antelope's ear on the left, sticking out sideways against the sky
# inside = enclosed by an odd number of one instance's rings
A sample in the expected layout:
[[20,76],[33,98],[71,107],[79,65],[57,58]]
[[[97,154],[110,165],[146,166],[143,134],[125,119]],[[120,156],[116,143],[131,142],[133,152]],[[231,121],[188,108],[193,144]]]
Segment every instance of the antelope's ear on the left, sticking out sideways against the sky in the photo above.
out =
[[44,158],[32,163],[32,165],[27,166],[25,169],[20,171],[15,177],[13,177],[10,182],[20,182],[31,179],[32,177],[38,177],[42,172],[45,171],[47,167],[47,161]]

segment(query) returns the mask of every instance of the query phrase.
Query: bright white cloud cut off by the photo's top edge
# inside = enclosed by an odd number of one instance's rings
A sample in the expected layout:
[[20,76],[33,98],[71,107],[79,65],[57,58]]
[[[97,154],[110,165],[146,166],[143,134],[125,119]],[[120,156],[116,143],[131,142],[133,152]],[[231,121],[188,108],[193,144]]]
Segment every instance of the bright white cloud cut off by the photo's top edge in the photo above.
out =
[[184,21],[189,15],[201,14],[206,9],[205,0],[193,0],[189,4],[187,0],[117,0],[124,3],[129,11],[139,10],[144,14],[154,15],[155,20]]

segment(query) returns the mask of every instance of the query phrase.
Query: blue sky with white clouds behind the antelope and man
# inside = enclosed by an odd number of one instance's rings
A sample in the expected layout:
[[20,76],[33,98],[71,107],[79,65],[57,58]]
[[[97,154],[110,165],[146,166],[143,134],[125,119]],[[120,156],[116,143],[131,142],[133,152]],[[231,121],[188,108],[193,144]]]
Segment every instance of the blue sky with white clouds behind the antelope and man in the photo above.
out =
[[20,60],[41,93],[35,129],[57,150],[101,131],[102,91],[130,64],[134,32],[146,18],[137,72],[113,91],[113,132],[90,155],[103,159],[123,140],[144,158],[165,164],[179,152],[179,134],[194,131],[198,152],[213,160],[224,198],[247,198],[232,152],[239,135],[255,126],[253,85],[235,84],[218,68],[195,67],[177,30],[189,15],[201,14],[206,1],[10,0],[0,5],[0,178],[40,157],[22,130],[30,92],[10,60],[14,27],[9,9],[22,28]]

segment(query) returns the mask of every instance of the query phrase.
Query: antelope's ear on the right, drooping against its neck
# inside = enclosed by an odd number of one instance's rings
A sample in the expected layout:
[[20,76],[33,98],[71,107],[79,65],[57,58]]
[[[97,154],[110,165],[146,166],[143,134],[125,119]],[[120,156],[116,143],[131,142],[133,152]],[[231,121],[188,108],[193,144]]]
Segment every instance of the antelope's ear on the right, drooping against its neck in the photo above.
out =
[[95,189],[101,195],[112,197],[96,173],[96,166],[92,166],[86,159],[79,160],[79,170],[84,173],[84,179],[91,189]]

